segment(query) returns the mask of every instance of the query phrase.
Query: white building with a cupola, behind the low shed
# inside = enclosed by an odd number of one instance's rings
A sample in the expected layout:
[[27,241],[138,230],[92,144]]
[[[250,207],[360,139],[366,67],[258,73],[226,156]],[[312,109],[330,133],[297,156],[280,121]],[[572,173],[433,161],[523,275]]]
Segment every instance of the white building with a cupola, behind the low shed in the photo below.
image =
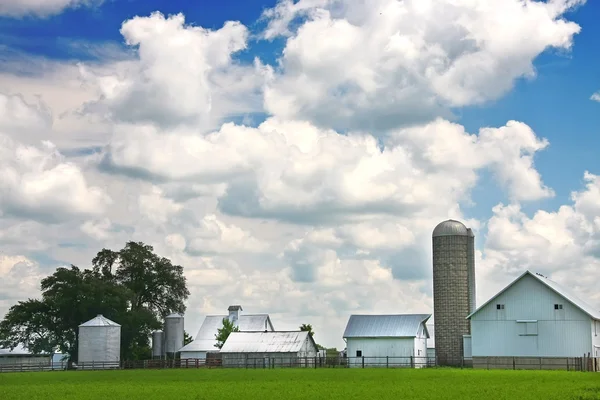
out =
[[207,315],[194,341],[183,346],[180,350],[182,359],[198,358],[206,359],[207,353],[218,353],[215,346],[215,336],[223,327],[223,319],[228,318],[238,327],[240,332],[264,332],[273,331],[273,324],[269,314],[240,314],[241,306],[230,306],[229,315]]

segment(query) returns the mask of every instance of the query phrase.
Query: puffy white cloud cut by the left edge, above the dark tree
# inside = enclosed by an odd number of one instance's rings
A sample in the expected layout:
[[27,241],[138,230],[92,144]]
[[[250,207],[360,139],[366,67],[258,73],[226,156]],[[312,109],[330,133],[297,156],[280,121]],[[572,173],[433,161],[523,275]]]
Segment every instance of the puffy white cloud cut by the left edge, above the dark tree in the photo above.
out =
[[47,113],[18,96],[0,94],[0,105],[0,212],[50,222],[102,213],[110,197],[89,185],[51,142],[28,146],[12,139],[28,129],[49,129]]

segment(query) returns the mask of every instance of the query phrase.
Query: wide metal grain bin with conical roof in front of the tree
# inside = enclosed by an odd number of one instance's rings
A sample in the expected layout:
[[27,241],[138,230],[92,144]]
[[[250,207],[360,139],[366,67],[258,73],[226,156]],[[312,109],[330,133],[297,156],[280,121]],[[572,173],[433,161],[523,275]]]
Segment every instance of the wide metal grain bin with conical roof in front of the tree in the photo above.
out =
[[103,315],[79,325],[80,368],[115,368],[121,360],[121,325]]

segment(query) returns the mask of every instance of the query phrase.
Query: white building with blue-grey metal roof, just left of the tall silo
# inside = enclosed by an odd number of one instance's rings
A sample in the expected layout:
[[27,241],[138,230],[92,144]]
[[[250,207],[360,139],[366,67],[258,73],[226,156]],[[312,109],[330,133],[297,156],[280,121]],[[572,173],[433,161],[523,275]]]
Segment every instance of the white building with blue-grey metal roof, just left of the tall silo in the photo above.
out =
[[351,315],[344,331],[350,367],[427,363],[431,314]]

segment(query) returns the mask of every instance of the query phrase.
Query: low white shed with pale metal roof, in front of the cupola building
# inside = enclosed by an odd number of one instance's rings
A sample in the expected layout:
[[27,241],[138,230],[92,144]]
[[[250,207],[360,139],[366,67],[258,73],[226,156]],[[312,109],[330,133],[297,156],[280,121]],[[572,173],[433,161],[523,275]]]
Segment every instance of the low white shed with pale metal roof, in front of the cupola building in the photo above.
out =
[[309,367],[317,345],[305,331],[232,332],[220,351],[224,367]]

